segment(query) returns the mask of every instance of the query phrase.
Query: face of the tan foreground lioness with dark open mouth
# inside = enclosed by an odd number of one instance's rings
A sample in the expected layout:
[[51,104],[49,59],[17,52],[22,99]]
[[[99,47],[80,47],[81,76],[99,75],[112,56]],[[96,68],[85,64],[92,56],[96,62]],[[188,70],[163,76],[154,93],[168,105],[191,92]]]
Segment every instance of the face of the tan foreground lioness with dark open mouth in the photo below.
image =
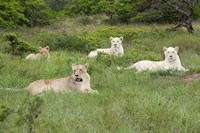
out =
[[72,71],[73,71],[73,78],[76,82],[83,82],[85,74],[87,73],[89,64],[86,63],[84,65],[72,65]]

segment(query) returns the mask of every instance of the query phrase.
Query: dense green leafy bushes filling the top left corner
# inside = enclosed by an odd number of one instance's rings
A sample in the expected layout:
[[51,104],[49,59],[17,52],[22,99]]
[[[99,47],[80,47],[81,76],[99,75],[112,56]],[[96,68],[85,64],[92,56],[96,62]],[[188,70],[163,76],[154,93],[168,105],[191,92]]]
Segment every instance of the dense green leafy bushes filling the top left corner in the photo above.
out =
[[2,28],[46,25],[54,16],[43,0],[0,0],[0,7]]

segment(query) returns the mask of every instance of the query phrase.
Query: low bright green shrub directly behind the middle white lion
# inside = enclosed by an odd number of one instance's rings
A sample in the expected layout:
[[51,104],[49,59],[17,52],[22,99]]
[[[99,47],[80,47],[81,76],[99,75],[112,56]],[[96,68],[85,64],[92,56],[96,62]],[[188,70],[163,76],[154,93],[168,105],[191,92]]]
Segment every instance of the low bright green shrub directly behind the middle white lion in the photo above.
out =
[[110,47],[110,36],[123,36],[125,40],[131,41],[136,36],[145,35],[147,33],[147,31],[136,30],[134,28],[119,29],[116,26],[105,26],[94,32],[83,32],[79,35],[79,38],[84,43],[86,51],[89,52],[100,47]]

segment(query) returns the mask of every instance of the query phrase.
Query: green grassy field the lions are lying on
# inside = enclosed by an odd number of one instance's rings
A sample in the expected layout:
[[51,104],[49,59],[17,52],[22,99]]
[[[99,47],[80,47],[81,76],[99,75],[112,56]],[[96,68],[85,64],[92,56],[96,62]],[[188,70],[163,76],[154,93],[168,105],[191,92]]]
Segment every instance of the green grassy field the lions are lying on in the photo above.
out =
[[[77,19],[70,19],[49,27],[21,28],[12,32],[36,44],[39,34],[76,35],[105,27],[109,26],[98,20],[83,25]],[[187,77],[200,73],[200,24],[194,24],[194,34],[185,30],[170,32],[166,30],[169,27],[118,25],[117,35],[124,36],[124,57],[88,59],[87,52],[52,49],[50,61],[25,61],[19,57],[11,60],[11,55],[4,52],[6,42],[1,41],[0,61],[4,67],[0,69],[0,106],[18,108],[27,97],[24,88],[32,81],[71,75],[72,64],[88,62],[91,87],[98,90],[99,95],[76,92],[42,95],[44,102],[35,119],[35,132],[199,133],[200,80],[188,81]],[[122,31],[127,28],[141,34],[125,35]],[[5,32],[10,31],[1,31]],[[101,39],[102,47],[110,46],[109,36]],[[143,59],[163,60],[163,46],[179,46],[182,65],[190,71],[136,73],[116,69]],[[12,114],[0,122],[0,132],[27,132],[26,124],[16,124],[17,117]]]

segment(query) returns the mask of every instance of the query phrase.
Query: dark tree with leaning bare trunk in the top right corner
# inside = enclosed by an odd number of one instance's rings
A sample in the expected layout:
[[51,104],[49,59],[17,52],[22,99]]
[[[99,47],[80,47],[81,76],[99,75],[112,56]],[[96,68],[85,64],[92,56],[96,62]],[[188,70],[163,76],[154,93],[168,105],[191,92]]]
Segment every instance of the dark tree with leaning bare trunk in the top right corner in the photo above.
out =
[[132,20],[177,24],[172,30],[185,27],[192,33],[192,21],[198,0],[145,0]]

